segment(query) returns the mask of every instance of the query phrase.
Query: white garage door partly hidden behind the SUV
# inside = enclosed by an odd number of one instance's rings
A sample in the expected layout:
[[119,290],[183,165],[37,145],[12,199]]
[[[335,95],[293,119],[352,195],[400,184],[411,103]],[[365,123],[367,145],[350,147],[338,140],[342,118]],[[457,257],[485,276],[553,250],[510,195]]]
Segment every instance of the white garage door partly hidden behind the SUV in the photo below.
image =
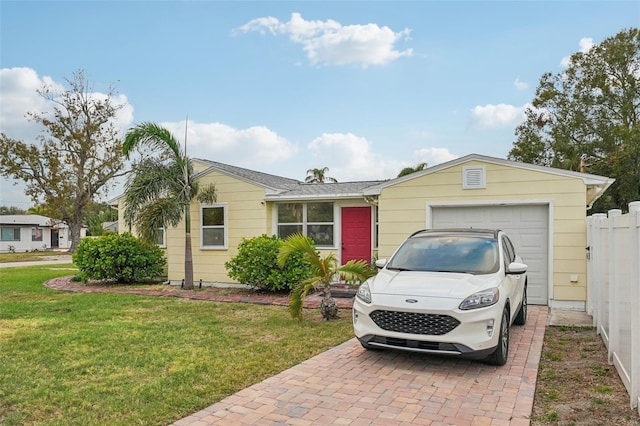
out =
[[546,205],[434,207],[433,228],[502,229],[529,265],[527,300],[547,304],[549,211]]

